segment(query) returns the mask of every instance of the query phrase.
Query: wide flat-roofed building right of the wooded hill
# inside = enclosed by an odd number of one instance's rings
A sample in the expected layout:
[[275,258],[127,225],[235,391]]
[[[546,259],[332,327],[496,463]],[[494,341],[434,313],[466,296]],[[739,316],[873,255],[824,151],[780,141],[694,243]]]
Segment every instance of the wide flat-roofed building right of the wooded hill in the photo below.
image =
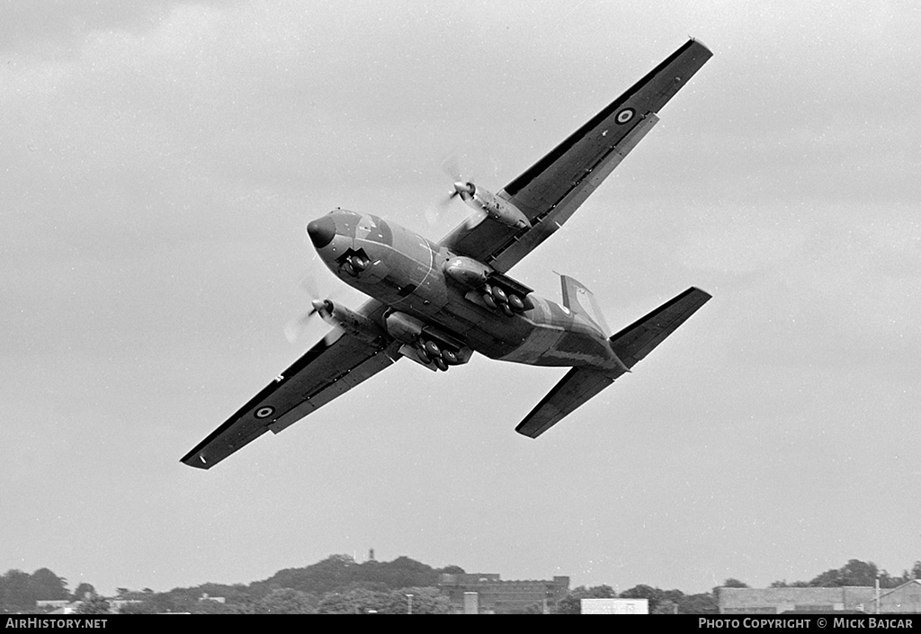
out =
[[[569,592],[568,577],[551,581],[502,581],[495,573],[443,573],[438,588],[458,612],[523,614],[532,609],[553,612]],[[474,607],[475,606],[475,607]]]

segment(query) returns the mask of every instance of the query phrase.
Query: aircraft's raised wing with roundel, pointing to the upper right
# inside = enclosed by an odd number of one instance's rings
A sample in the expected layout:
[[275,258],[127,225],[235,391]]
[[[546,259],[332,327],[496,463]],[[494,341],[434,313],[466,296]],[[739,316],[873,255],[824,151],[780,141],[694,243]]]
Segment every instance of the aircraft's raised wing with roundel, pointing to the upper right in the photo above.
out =
[[656,113],[713,55],[690,40],[497,195],[528,217],[530,228],[486,218],[464,222],[441,244],[506,273],[573,215],[589,194],[659,121]]

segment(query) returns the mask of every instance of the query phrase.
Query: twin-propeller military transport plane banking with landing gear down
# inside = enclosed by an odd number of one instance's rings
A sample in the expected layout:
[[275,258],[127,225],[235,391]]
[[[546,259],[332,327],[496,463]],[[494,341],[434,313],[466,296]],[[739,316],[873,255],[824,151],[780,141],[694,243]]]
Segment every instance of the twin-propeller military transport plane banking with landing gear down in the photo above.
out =
[[659,121],[657,112],[713,53],[689,40],[502,191],[455,182],[474,214],[433,242],[369,214],[334,209],[307,226],[323,264],[372,299],[313,312],[332,333],[215,429],[182,462],[208,469],[278,433],[400,358],[449,370],[474,352],[568,373],[516,428],[537,438],[658,346],[710,296],[688,288],[611,335],[594,297],[562,276],[563,304],[508,276],[573,215]]

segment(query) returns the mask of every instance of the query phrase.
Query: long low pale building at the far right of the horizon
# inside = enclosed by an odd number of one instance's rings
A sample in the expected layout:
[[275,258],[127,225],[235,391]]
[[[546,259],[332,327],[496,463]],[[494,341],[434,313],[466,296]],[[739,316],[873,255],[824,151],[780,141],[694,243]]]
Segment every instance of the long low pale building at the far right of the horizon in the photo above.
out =
[[[875,614],[876,588],[717,588],[719,614],[866,612]],[[880,590],[880,614],[921,613],[921,580]]]

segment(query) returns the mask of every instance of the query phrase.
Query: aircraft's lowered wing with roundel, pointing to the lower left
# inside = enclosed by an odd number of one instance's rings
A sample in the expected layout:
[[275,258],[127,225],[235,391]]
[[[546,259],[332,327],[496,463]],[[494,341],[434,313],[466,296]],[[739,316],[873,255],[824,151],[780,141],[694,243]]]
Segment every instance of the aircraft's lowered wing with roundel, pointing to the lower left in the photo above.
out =
[[[359,312],[374,315],[383,306],[366,302]],[[182,457],[181,462],[210,469],[266,431],[286,429],[315,409],[390,366],[401,355],[398,345],[376,346],[333,331],[311,347],[274,382],[239,408],[219,428]]]

